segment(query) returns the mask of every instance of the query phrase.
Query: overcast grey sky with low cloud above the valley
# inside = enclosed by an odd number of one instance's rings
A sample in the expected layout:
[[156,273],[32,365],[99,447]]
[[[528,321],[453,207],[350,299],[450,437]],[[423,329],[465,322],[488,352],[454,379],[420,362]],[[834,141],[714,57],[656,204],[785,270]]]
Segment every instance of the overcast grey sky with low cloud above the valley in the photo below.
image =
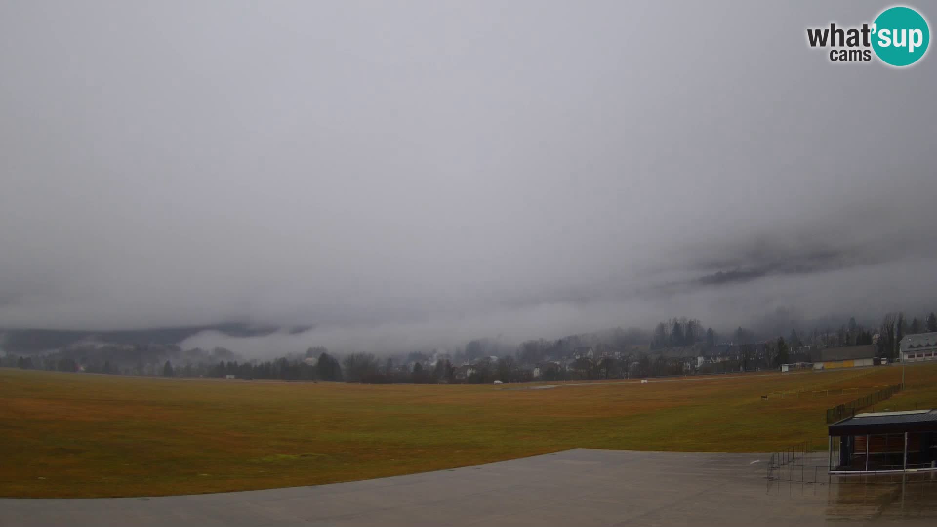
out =
[[6,0],[0,326],[937,309],[937,58],[805,38],[887,6]]

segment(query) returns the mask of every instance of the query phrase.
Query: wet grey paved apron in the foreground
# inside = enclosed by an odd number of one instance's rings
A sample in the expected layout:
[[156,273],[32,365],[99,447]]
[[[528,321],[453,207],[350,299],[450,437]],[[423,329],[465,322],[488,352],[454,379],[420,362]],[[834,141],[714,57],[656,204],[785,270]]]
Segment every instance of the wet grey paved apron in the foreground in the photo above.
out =
[[0,500],[0,525],[937,525],[937,483],[766,479],[765,455],[568,450],[474,467],[228,494]]

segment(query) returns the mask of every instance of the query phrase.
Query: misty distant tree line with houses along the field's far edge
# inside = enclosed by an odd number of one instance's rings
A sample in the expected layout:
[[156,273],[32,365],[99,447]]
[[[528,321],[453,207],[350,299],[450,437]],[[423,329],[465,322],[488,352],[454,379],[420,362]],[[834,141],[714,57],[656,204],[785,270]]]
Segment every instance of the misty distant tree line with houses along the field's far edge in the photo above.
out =
[[[699,320],[684,317],[662,321],[650,334],[616,328],[555,340],[530,339],[517,346],[498,339],[475,339],[453,354],[439,356],[420,351],[383,357],[370,353],[335,356],[314,347],[305,354],[243,360],[224,348],[184,351],[172,345],[80,345],[43,355],[7,354],[0,357],[0,366],[352,383],[511,383],[532,380],[534,369],[538,369],[537,378],[545,381],[654,377],[777,368],[789,362],[809,362],[812,351],[841,346],[874,344],[880,356],[895,358],[906,335],[937,332],[937,316],[930,312],[909,321],[902,312],[893,312],[872,326],[858,324],[851,317],[839,327],[814,327],[807,332],[792,328],[786,339],[759,340],[754,331],[737,327],[725,338],[729,343],[711,327],[704,327]],[[587,356],[583,350],[589,350]],[[697,354],[718,360],[697,364]]]

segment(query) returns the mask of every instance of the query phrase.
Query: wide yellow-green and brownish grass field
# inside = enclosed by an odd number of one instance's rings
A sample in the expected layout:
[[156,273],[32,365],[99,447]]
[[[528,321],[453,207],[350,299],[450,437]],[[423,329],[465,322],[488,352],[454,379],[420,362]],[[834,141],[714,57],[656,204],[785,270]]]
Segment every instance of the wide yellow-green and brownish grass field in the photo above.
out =
[[[937,365],[876,408],[937,407]],[[899,367],[536,384],[157,379],[0,369],[0,496],[156,496],[332,483],[568,448],[825,445],[825,409]],[[840,388],[857,388],[843,394]],[[834,390],[837,395],[825,395]],[[772,397],[778,392],[803,393]]]

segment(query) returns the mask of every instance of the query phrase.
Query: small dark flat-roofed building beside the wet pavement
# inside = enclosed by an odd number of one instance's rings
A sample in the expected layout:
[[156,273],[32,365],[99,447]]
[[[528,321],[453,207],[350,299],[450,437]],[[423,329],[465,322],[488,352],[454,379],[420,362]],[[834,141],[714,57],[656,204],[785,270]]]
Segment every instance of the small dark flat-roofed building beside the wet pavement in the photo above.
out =
[[937,469],[937,411],[856,414],[829,425],[834,474]]

